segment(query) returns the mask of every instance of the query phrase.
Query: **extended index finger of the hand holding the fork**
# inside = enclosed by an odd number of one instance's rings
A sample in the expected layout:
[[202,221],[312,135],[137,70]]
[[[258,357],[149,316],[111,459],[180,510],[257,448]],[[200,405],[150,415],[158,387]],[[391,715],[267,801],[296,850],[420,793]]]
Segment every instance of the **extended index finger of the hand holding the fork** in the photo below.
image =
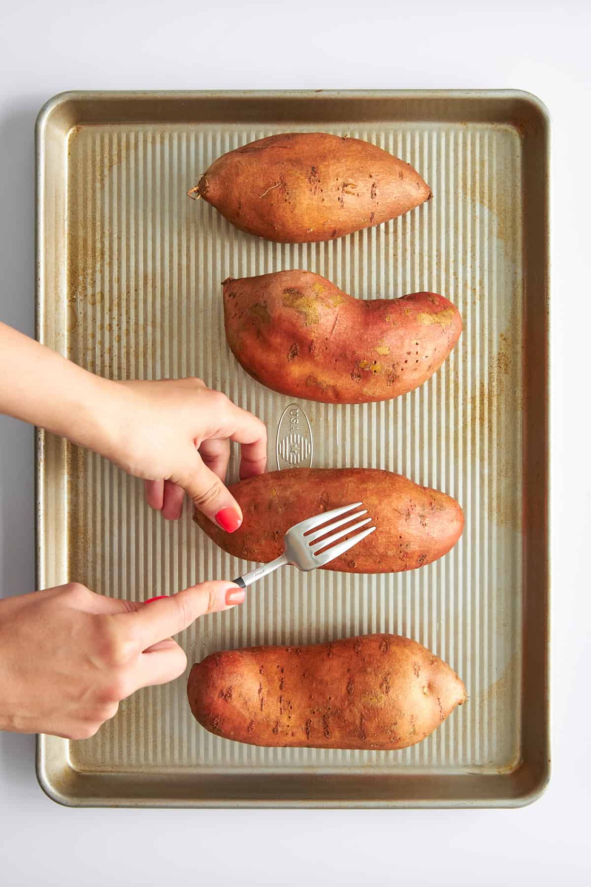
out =
[[145,650],[183,632],[198,616],[235,607],[245,600],[245,591],[233,582],[200,582],[169,598],[151,600],[149,606],[122,615],[133,619],[137,636]]

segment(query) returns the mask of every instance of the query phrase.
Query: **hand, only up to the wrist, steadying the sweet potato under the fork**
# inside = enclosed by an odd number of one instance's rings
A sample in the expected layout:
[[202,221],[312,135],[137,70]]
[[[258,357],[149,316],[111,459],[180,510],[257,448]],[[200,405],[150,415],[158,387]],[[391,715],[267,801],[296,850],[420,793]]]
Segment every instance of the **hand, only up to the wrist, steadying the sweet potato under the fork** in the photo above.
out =
[[229,442],[241,445],[240,477],[260,475],[267,463],[267,429],[220,391],[199,379],[125,381],[123,433],[105,452],[146,481],[152,508],[175,520],[186,491],[222,530],[242,523],[242,511],[224,485]]

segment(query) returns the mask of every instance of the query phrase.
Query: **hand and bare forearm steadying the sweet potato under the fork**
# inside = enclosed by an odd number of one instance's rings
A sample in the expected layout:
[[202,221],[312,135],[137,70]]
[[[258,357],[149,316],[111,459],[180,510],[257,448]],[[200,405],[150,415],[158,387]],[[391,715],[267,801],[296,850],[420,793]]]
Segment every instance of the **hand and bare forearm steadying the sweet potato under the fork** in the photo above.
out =
[[181,514],[183,490],[223,530],[242,512],[224,486],[229,442],[242,447],[240,476],[259,475],[267,431],[199,379],[101,379],[0,323],[0,412],[94,450],[147,481],[148,501]]

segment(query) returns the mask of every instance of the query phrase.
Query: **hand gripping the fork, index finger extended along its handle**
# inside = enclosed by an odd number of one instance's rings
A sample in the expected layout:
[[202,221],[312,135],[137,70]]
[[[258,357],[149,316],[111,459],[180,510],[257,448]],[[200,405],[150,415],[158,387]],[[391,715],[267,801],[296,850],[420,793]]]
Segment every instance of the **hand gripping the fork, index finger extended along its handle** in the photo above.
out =
[[171,634],[244,599],[203,582],[148,606],[77,583],[0,600],[0,729],[88,739],[122,699],[183,673]]

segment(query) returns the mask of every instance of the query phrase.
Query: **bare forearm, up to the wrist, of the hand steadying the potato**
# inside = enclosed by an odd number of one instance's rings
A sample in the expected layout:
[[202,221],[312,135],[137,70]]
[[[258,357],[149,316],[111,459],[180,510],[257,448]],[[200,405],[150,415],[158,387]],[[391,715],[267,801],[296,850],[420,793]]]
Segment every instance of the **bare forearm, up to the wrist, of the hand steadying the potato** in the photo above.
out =
[[125,392],[0,323],[0,412],[107,454]]

